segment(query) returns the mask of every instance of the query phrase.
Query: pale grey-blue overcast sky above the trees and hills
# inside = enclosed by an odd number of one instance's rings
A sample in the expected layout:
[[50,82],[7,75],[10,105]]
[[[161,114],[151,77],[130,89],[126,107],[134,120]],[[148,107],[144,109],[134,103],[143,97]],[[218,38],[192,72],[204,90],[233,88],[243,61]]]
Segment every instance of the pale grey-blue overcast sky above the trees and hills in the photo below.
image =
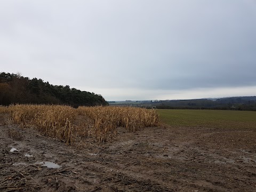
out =
[[108,101],[256,95],[256,1],[1,0],[0,71]]

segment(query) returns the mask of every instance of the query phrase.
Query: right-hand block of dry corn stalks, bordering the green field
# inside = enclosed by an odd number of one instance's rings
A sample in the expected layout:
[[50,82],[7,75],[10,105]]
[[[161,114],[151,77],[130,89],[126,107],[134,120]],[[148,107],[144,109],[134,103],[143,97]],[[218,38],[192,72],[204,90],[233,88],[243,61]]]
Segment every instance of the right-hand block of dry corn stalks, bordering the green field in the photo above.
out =
[[153,109],[134,107],[78,107],[79,115],[87,115],[94,120],[95,137],[100,141],[112,139],[117,127],[135,132],[144,127],[157,126],[159,116]]

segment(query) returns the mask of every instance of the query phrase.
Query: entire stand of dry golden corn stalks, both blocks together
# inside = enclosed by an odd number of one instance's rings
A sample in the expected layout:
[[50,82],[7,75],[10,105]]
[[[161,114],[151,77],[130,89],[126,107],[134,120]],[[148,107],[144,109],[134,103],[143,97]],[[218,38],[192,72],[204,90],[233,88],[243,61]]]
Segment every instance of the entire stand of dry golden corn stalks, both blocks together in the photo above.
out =
[[[0,113],[10,113],[12,122],[22,127],[34,127],[47,137],[65,141],[68,145],[78,138],[95,137],[105,142],[117,135],[118,127],[127,132],[157,126],[159,115],[154,109],[133,107],[78,107],[58,105],[11,105],[0,107]],[[92,125],[86,119],[92,119]]]

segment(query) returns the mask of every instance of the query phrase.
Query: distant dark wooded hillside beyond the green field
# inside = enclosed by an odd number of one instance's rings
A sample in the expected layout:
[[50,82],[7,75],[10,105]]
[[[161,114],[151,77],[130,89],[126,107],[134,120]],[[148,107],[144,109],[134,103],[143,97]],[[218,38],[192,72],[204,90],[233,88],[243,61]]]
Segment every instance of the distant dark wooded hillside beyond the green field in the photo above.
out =
[[230,97],[214,100],[163,100],[155,102],[154,105],[158,109],[222,109],[256,111],[256,97]]

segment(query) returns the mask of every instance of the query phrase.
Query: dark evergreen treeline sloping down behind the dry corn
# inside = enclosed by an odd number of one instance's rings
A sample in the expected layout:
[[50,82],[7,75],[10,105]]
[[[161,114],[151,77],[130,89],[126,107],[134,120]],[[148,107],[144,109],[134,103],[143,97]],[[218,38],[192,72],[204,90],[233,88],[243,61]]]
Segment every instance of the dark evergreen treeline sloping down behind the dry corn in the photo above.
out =
[[42,79],[29,79],[19,74],[0,73],[0,105],[12,103],[58,104],[78,106],[108,105],[95,93],[80,91],[66,85],[52,85]]

